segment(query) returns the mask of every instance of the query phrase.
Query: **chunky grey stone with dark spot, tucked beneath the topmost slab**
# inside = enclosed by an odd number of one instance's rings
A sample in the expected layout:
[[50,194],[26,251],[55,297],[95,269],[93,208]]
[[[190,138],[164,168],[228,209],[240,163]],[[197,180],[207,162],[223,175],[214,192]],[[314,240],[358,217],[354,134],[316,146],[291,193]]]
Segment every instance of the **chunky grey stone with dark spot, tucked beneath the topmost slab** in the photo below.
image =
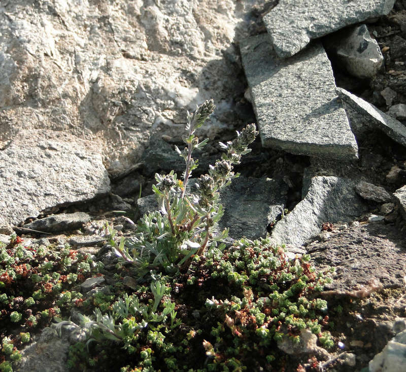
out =
[[371,78],[381,69],[384,57],[377,41],[370,37],[365,24],[336,32],[323,42],[347,71],[358,78]]

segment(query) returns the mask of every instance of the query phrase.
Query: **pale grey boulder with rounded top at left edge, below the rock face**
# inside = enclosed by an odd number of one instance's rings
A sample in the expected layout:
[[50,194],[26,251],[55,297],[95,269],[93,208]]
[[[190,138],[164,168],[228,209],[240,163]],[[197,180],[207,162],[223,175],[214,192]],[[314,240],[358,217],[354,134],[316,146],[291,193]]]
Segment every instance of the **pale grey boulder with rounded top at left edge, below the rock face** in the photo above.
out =
[[94,144],[71,134],[25,130],[0,151],[0,226],[109,191]]

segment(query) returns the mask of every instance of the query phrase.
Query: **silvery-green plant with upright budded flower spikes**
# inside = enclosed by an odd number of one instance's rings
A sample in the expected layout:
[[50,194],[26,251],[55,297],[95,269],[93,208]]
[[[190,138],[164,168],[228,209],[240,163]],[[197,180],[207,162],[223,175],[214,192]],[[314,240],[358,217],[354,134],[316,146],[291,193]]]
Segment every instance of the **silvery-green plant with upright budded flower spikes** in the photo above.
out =
[[[166,274],[174,274],[181,267],[188,266],[193,255],[202,255],[208,247],[216,247],[217,242],[227,237],[227,229],[213,236],[213,228],[224,214],[220,204],[219,190],[227,186],[234,174],[233,164],[240,163],[241,156],[250,150],[248,145],[255,140],[258,132],[255,124],[247,125],[237,132],[233,141],[221,146],[227,151],[222,158],[210,165],[209,174],[197,179],[197,191],[186,194],[186,185],[191,172],[197,167],[192,158],[194,149],[201,149],[208,139],[199,142],[195,136],[200,127],[214,110],[213,100],[188,113],[187,134],[183,141],[187,145],[183,151],[175,147],[185,159],[184,181],[177,179],[174,171],[167,175],[155,175],[156,185],[152,186],[158,210],[144,215],[138,222],[138,229],[130,238],[115,243],[110,240],[116,254],[136,267],[137,277],[160,267]],[[114,237],[114,234],[111,233]],[[151,285],[153,291],[159,288]]]

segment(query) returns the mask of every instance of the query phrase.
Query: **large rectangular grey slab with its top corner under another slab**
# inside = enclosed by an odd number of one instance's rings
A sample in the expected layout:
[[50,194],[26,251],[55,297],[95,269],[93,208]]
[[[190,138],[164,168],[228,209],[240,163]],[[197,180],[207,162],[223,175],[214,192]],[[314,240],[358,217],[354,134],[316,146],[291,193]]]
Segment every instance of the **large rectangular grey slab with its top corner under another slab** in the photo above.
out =
[[298,155],[357,157],[331,64],[319,42],[286,60],[276,55],[266,34],[240,46],[264,147]]

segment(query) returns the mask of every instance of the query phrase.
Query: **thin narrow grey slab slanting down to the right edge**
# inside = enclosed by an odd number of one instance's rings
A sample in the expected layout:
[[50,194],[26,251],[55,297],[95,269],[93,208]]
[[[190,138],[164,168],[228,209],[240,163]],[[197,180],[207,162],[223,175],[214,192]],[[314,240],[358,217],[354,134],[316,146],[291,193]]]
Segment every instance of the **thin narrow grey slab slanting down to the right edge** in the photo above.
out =
[[406,126],[400,121],[390,117],[381,110],[377,109],[374,105],[366,102],[355,94],[343,88],[336,88],[340,94],[340,98],[343,99],[349,106],[360,114],[369,117],[371,124],[374,124],[377,128],[385,132],[392,140],[397,143],[406,146]]

